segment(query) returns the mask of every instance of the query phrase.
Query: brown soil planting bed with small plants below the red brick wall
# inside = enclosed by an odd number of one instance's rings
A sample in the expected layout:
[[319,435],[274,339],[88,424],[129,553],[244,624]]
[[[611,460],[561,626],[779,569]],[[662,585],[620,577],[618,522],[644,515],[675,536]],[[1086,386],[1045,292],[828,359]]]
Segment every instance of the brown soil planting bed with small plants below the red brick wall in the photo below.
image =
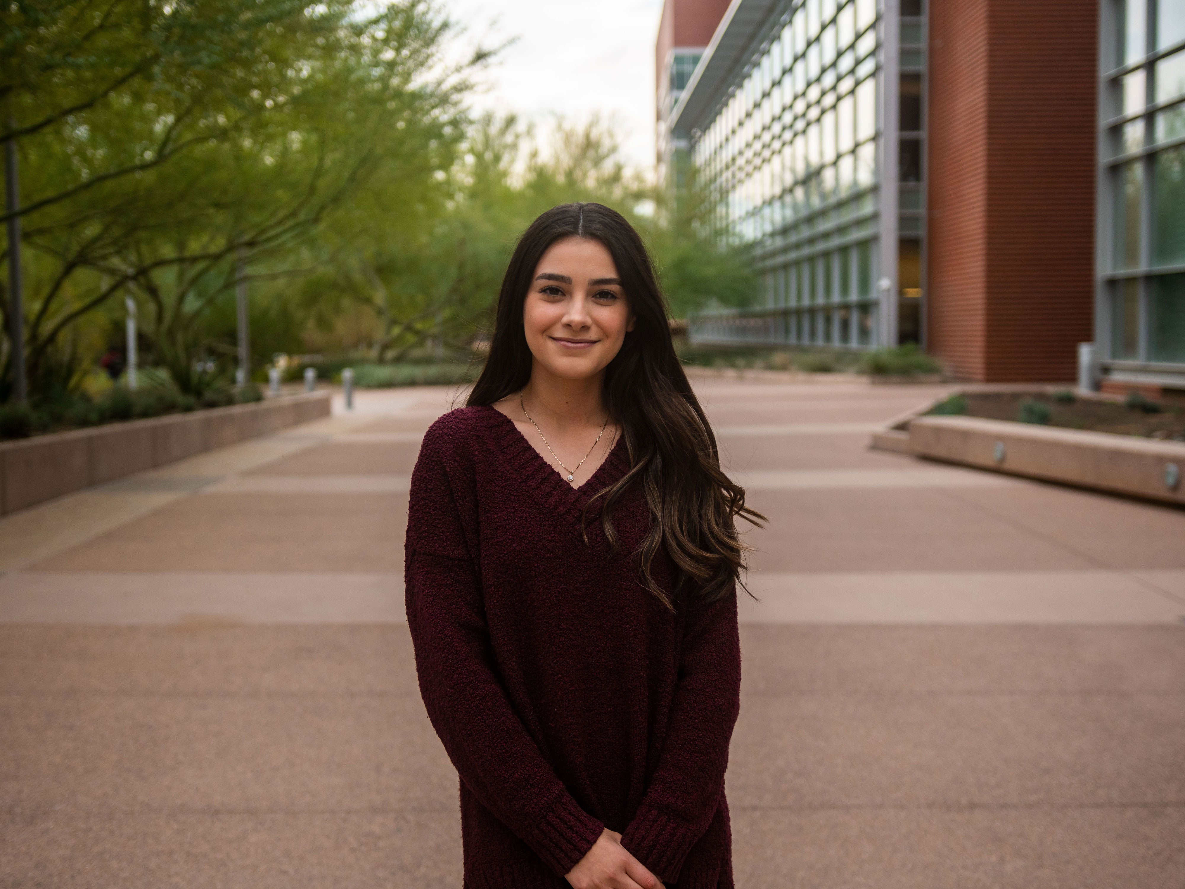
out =
[[986,420],[1139,435],[1185,442],[1185,396],[1151,399],[1133,394],[1126,401],[1080,398],[1070,390],[1052,392],[960,392],[929,411]]

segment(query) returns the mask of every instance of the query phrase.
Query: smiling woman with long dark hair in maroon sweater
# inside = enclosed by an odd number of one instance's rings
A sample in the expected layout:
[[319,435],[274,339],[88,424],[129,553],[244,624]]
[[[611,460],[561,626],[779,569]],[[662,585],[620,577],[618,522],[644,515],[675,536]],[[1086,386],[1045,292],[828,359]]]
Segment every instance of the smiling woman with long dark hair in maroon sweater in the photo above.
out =
[[408,622],[467,889],[731,887],[734,519],[638,234],[549,210],[411,480]]

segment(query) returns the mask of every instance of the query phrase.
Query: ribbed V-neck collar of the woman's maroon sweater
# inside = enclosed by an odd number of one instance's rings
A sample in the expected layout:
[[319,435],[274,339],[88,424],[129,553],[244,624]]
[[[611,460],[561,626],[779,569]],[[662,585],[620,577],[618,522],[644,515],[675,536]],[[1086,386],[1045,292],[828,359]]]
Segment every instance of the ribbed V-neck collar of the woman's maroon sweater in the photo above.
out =
[[[523,484],[538,497],[547,509],[579,524],[585,505],[606,485],[613,484],[629,469],[626,436],[619,435],[609,453],[596,471],[583,482],[572,487],[556,467],[527,441],[526,435],[513,420],[493,405],[483,405],[491,444],[501,454],[506,465],[518,474]],[[600,512],[597,503],[589,507],[589,517]]]

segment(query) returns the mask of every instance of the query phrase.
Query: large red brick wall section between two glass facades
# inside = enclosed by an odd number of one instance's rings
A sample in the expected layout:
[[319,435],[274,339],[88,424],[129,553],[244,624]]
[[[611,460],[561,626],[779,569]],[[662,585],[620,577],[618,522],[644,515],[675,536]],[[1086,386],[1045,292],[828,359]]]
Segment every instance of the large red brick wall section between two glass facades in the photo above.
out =
[[1091,338],[1096,15],[930,2],[927,345],[959,377],[1072,380]]

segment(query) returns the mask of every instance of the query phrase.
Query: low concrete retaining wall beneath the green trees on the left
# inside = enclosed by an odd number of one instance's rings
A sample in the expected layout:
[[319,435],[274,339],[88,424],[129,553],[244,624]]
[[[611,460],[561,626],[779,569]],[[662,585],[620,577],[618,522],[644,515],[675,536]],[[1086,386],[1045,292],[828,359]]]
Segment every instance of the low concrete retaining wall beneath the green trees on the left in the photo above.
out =
[[0,514],[329,415],[329,392],[0,443]]

